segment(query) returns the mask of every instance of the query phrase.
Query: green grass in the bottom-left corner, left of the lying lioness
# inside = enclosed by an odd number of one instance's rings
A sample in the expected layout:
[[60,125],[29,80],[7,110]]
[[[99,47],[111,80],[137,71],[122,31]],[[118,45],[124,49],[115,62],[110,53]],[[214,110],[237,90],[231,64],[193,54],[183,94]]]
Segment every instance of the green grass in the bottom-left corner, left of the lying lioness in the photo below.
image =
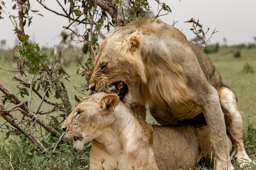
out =
[[[42,154],[30,142],[0,147],[0,170],[88,170],[89,148],[75,150],[73,146],[60,144],[55,155]],[[12,167],[11,167],[12,166]]]

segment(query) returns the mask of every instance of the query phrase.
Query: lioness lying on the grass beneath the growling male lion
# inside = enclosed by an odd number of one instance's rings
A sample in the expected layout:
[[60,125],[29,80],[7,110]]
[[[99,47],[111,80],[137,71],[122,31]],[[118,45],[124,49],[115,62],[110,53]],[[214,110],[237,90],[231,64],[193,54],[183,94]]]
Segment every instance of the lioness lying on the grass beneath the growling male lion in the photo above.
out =
[[207,126],[151,126],[115,94],[84,98],[62,128],[76,148],[92,142],[90,170],[189,170],[211,157]]

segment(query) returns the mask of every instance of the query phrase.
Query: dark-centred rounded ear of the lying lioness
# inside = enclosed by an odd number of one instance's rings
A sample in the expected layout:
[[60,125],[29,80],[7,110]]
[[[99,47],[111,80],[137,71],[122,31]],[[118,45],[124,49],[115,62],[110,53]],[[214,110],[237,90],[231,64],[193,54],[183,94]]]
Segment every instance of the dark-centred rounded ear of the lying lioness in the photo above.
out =
[[99,109],[101,111],[111,112],[115,110],[119,104],[119,97],[116,94],[110,94],[102,97],[99,101]]

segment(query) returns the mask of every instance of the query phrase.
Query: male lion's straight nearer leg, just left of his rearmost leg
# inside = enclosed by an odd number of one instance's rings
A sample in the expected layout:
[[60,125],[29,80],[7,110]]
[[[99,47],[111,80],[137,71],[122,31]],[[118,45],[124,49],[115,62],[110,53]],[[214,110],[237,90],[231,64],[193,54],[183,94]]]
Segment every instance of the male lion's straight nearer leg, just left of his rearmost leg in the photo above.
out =
[[229,156],[229,144],[227,140],[224,115],[220,107],[220,100],[215,88],[211,85],[205,86],[204,92],[198,95],[196,103],[202,107],[204,117],[207,121],[215,151],[215,170],[233,170]]

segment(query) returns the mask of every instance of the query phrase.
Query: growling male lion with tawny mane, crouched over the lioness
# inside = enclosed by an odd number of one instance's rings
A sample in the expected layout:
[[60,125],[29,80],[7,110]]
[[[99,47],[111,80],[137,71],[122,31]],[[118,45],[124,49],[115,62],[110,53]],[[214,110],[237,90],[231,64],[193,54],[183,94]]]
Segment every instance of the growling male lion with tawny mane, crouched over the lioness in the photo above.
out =
[[203,113],[216,152],[215,169],[234,169],[226,126],[240,165],[246,159],[251,162],[235,93],[204,51],[175,27],[144,18],[115,29],[95,58],[89,88],[108,92],[112,84],[120,99],[144,119],[147,103],[161,125],[181,124]]

